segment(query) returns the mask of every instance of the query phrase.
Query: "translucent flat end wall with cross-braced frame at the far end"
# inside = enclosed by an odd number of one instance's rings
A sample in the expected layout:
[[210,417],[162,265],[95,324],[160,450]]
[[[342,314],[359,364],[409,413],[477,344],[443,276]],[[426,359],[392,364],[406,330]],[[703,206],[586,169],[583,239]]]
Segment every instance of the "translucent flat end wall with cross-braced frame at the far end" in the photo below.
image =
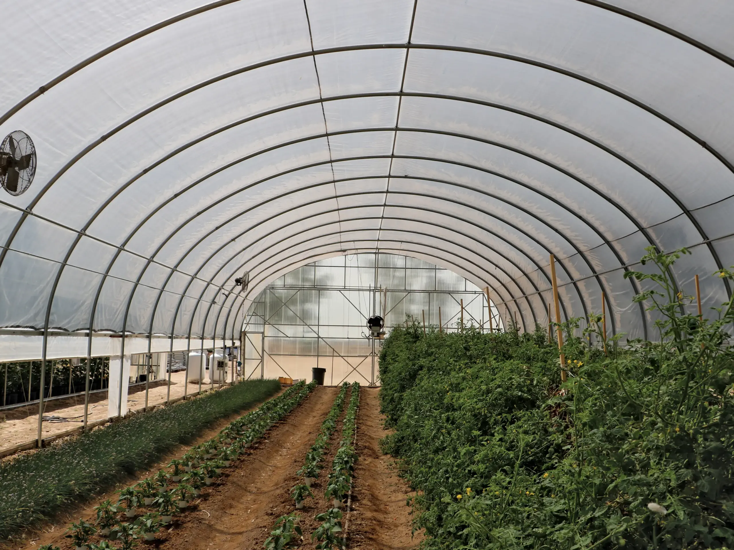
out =
[[[371,336],[373,315],[386,334]],[[504,329],[487,291],[453,271],[401,254],[344,254],[280,276],[252,301],[241,338],[245,377],[310,380],[316,368],[327,386],[379,386],[384,337],[410,319],[426,330],[457,331],[462,320]]]

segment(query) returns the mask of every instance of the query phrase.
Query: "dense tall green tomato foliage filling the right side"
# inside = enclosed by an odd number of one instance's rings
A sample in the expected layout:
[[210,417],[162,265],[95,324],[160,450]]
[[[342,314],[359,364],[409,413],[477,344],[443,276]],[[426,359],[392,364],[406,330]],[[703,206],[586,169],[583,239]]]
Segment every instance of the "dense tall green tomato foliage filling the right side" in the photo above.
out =
[[[734,315],[683,315],[650,250],[660,341],[564,325],[569,378],[544,330],[392,331],[380,356],[383,441],[418,491],[426,549],[734,547]],[[730,277],[728,271],[719,276]]]

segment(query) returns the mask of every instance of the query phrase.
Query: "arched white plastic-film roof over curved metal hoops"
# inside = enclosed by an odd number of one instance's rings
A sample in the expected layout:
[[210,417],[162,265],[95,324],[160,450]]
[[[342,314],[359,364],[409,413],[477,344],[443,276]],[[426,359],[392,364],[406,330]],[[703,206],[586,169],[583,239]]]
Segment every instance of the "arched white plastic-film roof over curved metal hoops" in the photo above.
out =
[[[655,337],[624,279],[734,263],[734,9],[674,0],[7,0],[0,327],[236,336],[273,280],[384,252],[543,323]],[[250,272],[245,292],[234,278]]]

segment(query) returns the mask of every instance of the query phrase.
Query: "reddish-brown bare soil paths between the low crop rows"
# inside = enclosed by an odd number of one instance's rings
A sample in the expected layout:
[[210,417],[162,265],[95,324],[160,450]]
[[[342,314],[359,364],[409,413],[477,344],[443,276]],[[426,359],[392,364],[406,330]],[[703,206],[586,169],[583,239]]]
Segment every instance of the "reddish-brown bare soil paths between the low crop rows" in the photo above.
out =
[[[296,511],[301,516],[300,524],[305,535],[298,547],[314,549],[310,532],[319,524],[314,516],[330,507],[323,494],[330,463],[341,440],[341,419],[324,456],[324,469],[313,484],[314,497],[306,500],[303,510],[296,510],[290,490],[293,485],[302,483],[296,472],[303,465],[306,452],[319,433],[321,422],[337,394],[338,388],[316,388],[286,419],[271,428],[264,439],[254,444],[249,454],[225,469],[214,485],[204,488],[201,498],[192,502],[189,509],[175,516],[170,529],[159,532],[154,542],[140,541],[138,550],[262,549],[277,518]],[[232,419],[218,422],[195,443],[211,438]],[[384,435],[378,390],[363,388],[357,417],[359,460],[355,470],[352,511],[343,519],[343,522],[348,521],[349,548],[412,549],[421,540],[420,533],[414,537],[411,532],[412,517],[410,507],[406,505],[409,490],[393,469],[391,458],[379,452],[379,439]],[[149,472],[141,472],[126,485],[147,477],[189,447],[181,446],[165,461]],[[117,490],[123,486],[118,485]],[[70,540],[63,536],[70,519],[81,516],[91,520],[92,507],[106,498],[114,499],[114,491],[99,496],[94,502],[70,509],[54,524],[47,524],[34,535],[26,535],[22,545],[10,548],[31,550],[53,543],[62,550],[73,550]],[[147,510],[140,510],[141,513],[143,511]],[[114,546],[115,543],[112,544]]]

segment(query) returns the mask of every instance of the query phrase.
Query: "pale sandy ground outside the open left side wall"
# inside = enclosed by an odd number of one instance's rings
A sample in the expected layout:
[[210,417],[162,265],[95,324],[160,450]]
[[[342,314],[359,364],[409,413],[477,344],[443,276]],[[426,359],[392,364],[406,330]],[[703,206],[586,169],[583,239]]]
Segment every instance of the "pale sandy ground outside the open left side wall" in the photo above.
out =
[[[183,382],[186,373],[171,373],[170,394],[166,380],[156,381],[148,388],[148,407],[165,403],[170,399],[183,396]],[[204,385],[202,389],[217,386]],[[199,384],[189,383],[186,391],[192,394],[199,391]],[[107,418],[107,392],[90,395],[88,421],[95,422]],[[128,393],[128,410],[139,411],[145,408],[145,385],[132,386]],[[0,413],[0,452],[36,439],[38,430],[38,405],[22,406]],[[54,436],[71,428],[78,428],[84,419],[84,395],[67,399],[51,400],[43,406],[43,437]]]

